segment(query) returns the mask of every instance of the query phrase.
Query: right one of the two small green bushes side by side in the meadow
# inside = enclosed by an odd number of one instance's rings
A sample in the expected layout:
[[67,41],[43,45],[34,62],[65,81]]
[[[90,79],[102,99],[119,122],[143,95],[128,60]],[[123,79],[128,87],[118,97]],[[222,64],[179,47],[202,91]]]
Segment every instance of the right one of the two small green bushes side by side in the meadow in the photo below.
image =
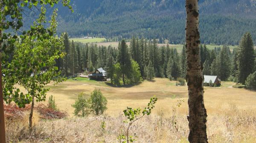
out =
[[107,109],[107,99],[100,90],[93,90],[90,95],[91,109],[95,115],[101,115]]

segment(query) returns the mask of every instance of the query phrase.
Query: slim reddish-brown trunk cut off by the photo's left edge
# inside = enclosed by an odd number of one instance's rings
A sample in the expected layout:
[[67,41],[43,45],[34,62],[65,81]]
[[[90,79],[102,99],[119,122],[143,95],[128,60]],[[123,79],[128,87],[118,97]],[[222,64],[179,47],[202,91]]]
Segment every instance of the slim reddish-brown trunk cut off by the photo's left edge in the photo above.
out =
[[[0,37],[2,36],[2,31],[0,30]],[[0,47],[1,47],[0,42]],[[3,112],[3,83],[2,83],[2,61],[0,53],[0,143],[5,143],[5,124],[4,124],[4,112]]]

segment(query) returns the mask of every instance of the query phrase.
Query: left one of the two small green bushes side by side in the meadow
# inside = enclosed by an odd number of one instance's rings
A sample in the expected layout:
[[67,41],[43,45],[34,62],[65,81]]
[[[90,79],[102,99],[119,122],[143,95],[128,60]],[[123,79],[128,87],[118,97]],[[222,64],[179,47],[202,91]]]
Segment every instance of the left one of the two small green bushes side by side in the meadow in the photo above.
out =
[[74,115],[79,117],[85,117],[90,114],[90,99],[87,100],[84,98],[84,93],[80,93],[78,95],[78,98],[75,102],[75,104],[71,105],[73,108],[75,108]]

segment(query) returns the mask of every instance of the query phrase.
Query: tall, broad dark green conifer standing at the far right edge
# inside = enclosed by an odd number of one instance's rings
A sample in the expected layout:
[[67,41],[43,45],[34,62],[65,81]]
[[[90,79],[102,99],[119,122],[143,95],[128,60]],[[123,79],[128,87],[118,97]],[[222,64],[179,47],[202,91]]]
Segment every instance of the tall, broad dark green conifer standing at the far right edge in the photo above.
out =
[[254,65],[254,48],[253,39],[249,32],[245,33],[239,42],[237,49],[238,74],[237,79],[241,84],[245,84],[245,80],[250,73],[253,73]]

